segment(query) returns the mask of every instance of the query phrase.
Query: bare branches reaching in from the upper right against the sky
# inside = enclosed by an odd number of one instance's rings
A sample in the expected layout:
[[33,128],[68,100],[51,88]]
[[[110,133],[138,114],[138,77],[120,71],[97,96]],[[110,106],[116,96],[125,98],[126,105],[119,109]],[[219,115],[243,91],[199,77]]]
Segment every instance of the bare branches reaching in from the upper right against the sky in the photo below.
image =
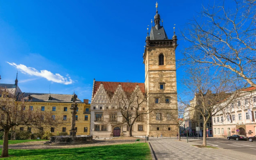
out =
[[209,2],[182,32],[184,64],[218,66],[256,87],[256,0]]

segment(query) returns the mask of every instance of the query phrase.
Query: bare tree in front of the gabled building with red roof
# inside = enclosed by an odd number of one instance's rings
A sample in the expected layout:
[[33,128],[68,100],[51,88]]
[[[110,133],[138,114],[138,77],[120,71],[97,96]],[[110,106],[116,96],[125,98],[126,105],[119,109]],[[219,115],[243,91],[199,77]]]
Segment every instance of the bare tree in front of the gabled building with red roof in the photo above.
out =
[[[126,86],[122,86],[122,88],[124,87],[134,88],[134,85],[129,86],[129,83],[127,83]],[[138,85],[131,92],[124,92],[124,90],[119,88],[113,94],[112,106],[114,107],[108,110],[108,116],[102,122],[111,124],[112,127],[126,124],[129,137],[132,136],[132,126],[134,123],[146,124],[146,115],[153,111],[148,109],[147,96],[140,90]]]

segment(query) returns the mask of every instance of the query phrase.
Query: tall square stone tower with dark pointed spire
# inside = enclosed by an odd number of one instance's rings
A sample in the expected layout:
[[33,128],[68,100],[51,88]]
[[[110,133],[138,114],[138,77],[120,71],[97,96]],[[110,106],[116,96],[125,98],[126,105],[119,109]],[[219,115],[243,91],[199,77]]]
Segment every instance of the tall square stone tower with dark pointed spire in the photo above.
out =
[[174,118],[178,118],[175,50],[177,36],[168,39],[157,10],[150,36],[146,37],[143,55],[145,64],[145,90],[148,95],[147,134],[149,136],[176,136]]

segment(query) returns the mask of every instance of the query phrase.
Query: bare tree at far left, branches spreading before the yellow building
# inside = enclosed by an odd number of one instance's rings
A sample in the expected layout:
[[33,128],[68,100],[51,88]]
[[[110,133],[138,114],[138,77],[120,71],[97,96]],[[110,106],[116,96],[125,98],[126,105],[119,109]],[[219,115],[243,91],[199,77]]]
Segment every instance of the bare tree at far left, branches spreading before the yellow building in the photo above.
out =
[[57,126],[62,124],[61,117],[52,119],[51,112],[40,112],[32,110],[26,106],[29,101],[25,100],[22,95],[16,96],[14,92],[0,88],[0,127],[4,129],[2,157],[8,157],[8,133],[10,128],[18,125],[34,126]]

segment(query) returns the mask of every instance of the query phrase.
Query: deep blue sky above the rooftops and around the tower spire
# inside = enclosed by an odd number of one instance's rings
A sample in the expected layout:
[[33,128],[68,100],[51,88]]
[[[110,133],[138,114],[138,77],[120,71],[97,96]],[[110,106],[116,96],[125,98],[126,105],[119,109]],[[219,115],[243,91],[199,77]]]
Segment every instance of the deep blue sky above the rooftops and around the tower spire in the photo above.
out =
[[[169,38],[182,30],[202,0],[159,0]],[[144,82],[142,55],[155,0],[0,0],[0,83],[22,92],[72,94],[91,99],[96,81]],[[154,24],[154,22],[153,22]],[[21,71],[23,70],[23,71]],[[177,69],[178,89],[182,68]]]

